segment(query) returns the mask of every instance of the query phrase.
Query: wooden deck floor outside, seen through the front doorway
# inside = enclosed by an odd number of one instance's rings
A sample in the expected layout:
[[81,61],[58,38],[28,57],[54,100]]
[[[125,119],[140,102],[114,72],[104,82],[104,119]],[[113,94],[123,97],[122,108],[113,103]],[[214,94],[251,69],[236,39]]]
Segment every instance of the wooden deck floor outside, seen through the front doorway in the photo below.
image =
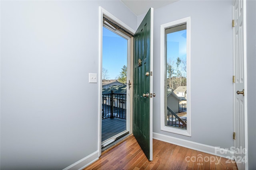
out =
[[126,130],[126,119],[102,119],[102,142]]

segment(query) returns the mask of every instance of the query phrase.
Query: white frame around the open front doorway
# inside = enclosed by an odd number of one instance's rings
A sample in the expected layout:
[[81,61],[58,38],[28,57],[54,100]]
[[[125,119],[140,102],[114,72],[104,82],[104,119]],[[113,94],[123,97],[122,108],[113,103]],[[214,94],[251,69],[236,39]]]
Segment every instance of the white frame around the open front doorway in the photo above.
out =
[[[102,8],[101,6],[99,7],[99,58],[98,58],[98,157],[100,157],[101,155],[101,117],[102,117],[102,109],[101,109],[101,104],[102,104],[102,97],[101,97],[101,93],[102,93],[102,27],[103,27],[103,15],[108,16],[109,18],[111,18],[113,21],[119,23],[120,25],[122,25],[122,27],[124,29],[126,29],[127,31],[129,31],[130,33],[134,34],[135,31],[130,28],[128,25],[126,25],[125,23],[123,23],[121,20],[119,20],[118,18],[116,18],[114,15],[112,15],[110,12],[106,11],[104,8]],[[132,37],[130,39],[130,50],[128,49],[128,59],[127,59],[127,71],[131,68],[130,64],[131,64],[131,58],[132,58],[132,53],[130,51],[132,51]],[[130,53],[130,54],[129,54]],[[131,69],[130,69],[131,70]],[[128,72],[127,74],[127,80],[132,80],[132,74],[130,74],[130,72]],[[127,95],[127,101],[130,100],[130,95]],[[130,102],[131,103],[131,102]],[[131,103],[132,104],[132,103]],[[130,107],[127,107],[127,125],[128,125],[128,130],[130,130]],[[131,133],[131,130],[130,130]]]

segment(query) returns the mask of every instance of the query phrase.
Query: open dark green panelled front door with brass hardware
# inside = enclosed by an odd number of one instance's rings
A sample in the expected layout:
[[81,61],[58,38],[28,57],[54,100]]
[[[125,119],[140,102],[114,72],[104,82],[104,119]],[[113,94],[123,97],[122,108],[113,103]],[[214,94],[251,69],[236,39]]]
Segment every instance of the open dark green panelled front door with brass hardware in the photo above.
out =
[[152,160],[153,8],[134,34],[133,134]]

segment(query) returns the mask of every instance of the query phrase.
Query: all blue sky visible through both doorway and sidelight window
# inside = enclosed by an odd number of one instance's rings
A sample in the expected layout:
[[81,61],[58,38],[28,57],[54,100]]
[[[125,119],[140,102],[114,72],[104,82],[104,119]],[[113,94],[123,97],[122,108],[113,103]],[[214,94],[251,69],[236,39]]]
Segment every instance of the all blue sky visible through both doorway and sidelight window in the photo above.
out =
[[[175,67],[177,57],[186,61],[186,29],[167,34],[167,62]],[[108,79],[118,77],[124,65],[127,66],[127,40],[103,27],[102,67],[108,70]]]

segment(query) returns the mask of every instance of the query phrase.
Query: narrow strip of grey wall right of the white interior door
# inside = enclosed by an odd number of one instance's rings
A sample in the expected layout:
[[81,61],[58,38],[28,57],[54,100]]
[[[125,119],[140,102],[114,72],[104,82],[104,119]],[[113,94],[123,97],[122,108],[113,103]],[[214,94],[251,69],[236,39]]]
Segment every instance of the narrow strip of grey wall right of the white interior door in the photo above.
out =
[[256,1],[247,5],[248,165],[256,169]]

